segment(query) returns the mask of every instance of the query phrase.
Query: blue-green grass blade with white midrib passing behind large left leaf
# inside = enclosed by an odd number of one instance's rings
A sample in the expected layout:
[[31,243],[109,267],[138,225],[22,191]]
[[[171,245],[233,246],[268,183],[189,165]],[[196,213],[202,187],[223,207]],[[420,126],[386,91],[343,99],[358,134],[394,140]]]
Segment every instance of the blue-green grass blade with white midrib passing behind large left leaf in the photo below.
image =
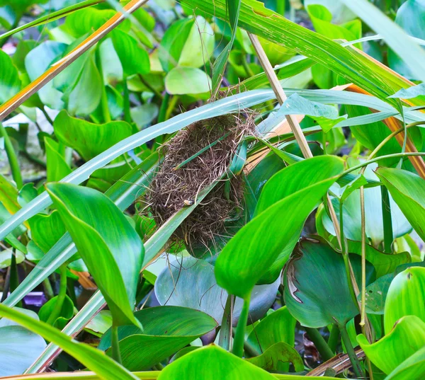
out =
[[[145,161],[137,165],[123,176],[114,185],[106,190],[105,194],[113,200],[121,210],[127,209],[137,197],[149,186],[152,174],[159,163],[157,152],[149,156]],[[30,274],[4,301],[6,306],[15,306],[24,296],[50,276],[60,265],[72,258],[77,252],[71,236],[68,233],[47,252],[40,262],[35,265]]]

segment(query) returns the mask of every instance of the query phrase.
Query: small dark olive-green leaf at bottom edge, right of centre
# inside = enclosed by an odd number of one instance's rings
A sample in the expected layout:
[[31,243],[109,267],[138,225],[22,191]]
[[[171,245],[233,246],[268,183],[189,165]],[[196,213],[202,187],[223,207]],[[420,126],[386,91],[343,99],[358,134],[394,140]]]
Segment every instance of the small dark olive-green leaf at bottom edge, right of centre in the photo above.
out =
[[293,364],[295,372],[302,372],[304,370],[304,363],[300,354],[298,354],[295,348],[283,342],[268,347],[263,354],[246,359],[246,361],[257,367],[266,369],[268,372],[288,372],[288,369],[283,367],[285,365],[288,366],[288,362]]

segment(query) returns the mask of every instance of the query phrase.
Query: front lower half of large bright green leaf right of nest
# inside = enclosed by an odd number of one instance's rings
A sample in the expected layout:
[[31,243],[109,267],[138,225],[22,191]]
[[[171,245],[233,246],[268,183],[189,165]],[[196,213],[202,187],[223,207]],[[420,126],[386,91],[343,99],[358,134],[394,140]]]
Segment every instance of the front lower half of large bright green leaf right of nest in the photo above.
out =
[[300,229],[336,177],[322,180],[276,202],[249,221],[227,243],[215,263],[217,284],[249,298],[251,290]]

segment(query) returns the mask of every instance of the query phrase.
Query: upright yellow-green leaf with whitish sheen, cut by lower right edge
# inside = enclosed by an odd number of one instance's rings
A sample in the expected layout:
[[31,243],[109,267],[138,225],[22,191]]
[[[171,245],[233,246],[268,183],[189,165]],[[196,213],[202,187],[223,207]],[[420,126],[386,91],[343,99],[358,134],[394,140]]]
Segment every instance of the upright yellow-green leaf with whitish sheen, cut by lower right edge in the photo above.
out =
[[410,267],[395,276],[385,300],[385,334],[404,316],[417,316],[425,322],[424,302],[412,301],[421,299],[424,292],[425,267]]

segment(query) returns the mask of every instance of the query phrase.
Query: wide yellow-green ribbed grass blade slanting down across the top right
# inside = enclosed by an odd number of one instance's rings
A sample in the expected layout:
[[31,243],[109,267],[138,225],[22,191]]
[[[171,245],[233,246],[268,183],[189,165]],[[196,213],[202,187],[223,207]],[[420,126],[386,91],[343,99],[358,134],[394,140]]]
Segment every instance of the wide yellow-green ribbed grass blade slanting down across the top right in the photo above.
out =
[[[226,16],[225,0],[179,0],[182,4],[197,11],[205,11],[211,16],[224,19]],[[329,40],[318,33],[288,21],[278,13],[264,7],[255,0],[244,0],[239,12],[239,23],[247,32],[259,35],[278,45],[283,45],[298,54],[305,55],[314,62],[323,64],[337,72],[378,98],[393,105],[397,103],[387,99],[397,88],[382,76],[382,68],[373,62],[366,64],[355,54],[346,50],[339,43]]]

